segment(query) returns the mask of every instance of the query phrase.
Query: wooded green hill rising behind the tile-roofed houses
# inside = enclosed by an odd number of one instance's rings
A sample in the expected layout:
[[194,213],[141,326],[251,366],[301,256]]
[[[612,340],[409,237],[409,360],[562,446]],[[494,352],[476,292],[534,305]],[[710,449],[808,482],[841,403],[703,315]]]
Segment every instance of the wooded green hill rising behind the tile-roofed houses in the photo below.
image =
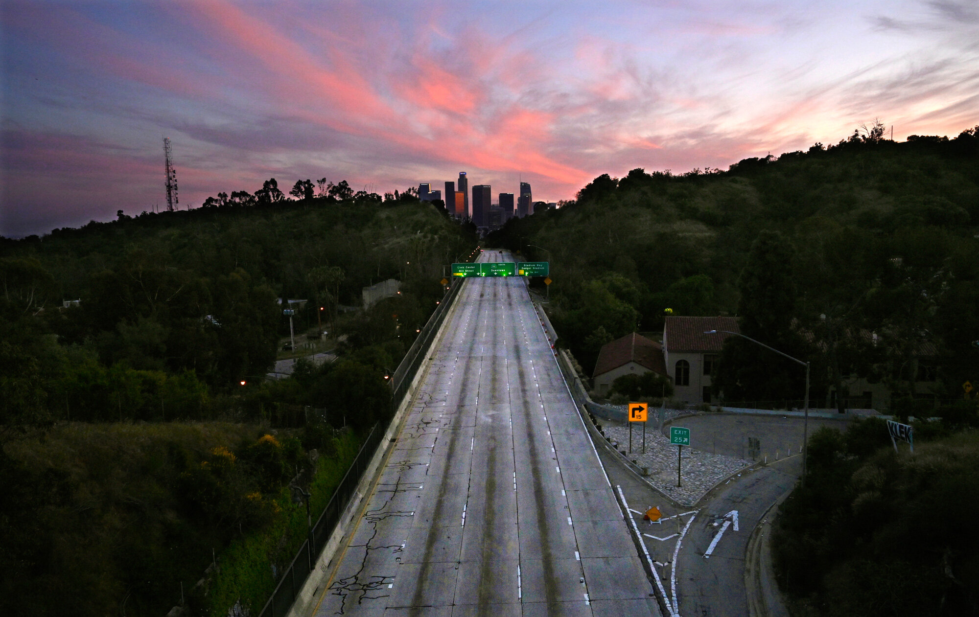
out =
[[[586,371],[604,343],[662,330],[668,308],[731,314],[810,359],[814,402],[828,406],[845,375],[885,381],[899,400],[961,398],[979,379],[977,235],[979,127],[896,143],[878,126],[727,171],[601,175],[487,244],[551,261],[552,320]],[[929,393],[914,391],[924,349],[937,354]],[[800,399],[803,371],[779,372],[766,353],[730,341],[716,394]]]

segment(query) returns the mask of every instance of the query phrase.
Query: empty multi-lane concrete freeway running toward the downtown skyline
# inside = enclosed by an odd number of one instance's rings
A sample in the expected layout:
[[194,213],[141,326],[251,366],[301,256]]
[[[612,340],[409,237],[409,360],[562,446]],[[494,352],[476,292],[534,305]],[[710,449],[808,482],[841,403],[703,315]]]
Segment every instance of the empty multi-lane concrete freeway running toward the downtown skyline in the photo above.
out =
[[659,615],[524,281],[465,281],[426,370],[313,614]]

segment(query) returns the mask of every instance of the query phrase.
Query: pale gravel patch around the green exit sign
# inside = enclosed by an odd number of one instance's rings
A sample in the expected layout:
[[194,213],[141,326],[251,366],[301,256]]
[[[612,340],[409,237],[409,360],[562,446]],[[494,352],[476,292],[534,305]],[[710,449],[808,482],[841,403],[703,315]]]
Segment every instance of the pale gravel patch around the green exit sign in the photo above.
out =
[[[646,452],[642,453],[642,424],[632,426],[632,453],[626,454],[639,467],[648,467],[646,478],[656,490],[675,499],[683,505],[693,505],[714,488],[724,478],[752,464],[752,461],[726,454],[712,454],[684,448],[681,464],[681,487],[676,487],[676,446],[670,445],[670,438],[656,430],[655,411],[650,409],[650,422],[646,426]],[[678,409],[667,409],[667,419],[681,413]],[[629,427],[620,422],[598,420],[618,451],[629,451]]]

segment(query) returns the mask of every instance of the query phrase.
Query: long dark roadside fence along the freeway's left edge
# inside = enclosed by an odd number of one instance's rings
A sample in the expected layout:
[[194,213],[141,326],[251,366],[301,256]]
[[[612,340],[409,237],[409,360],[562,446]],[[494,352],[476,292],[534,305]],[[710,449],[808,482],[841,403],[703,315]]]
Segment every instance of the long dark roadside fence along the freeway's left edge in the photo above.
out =
[[[393,410],[397,409],[398,405],[404,400],[404,396],[410,390],[418,367],[421,366],[422,360],[427,356],[429,347],[432,345],[436,333],[439,332],[439,328],[445,320],[445,315],[449,308],[451,308],[455,298],[459,295],[459,289],[462,288],[463,280],[456,279],[452,283],[449,290],[443,296],[443,299],[439,301],[439,308],[436,308],[432,316],[429,317],[428,322],[425,323],[425,327],[422,328],[421,333],[415,338],[415,342],[411,345],[408,353],[404,355],[401,363],[397,365],[397,370],[391,380],[391,404]],[[330,540],[333,530],[337,527],[344,510],[347,509],[350,503],[350,498],[356,492],[357,485],[360,483],[360,478],[364,470],[370,465],[374,452],[384,440],[389,423],[390,420],[385,420],[378,422],[371,428],[367,439],[364,440],[360,451],[357,452],[356,457],[353,459],[350,469],[347,470],[344,479],[340,481],[340,485],[333,492],[333,497],[330,498],[330,501],[326,504],[319,518],[316,519],[316,524],[310,530],[309,538],[303,542],[303,546],[300,546],[299,552],[293,557],[292,563],[283,571],[282,578],[279,579],[279,584],[276,586],[272,596],[265,602],[265,606],[262,607],[259,617],[285,617],[289,609],[292,608],[296,596],[303,589],[303,583],[305,583],[306,578],[312,571],[313,564],[319,558],[320,551]]]

